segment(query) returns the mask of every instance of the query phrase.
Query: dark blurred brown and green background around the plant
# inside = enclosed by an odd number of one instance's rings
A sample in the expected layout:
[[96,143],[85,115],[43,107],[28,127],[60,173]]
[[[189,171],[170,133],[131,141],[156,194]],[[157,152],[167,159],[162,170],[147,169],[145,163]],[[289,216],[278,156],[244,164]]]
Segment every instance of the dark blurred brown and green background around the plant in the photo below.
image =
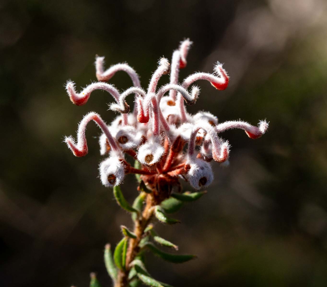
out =
[[[100,130],[88,127],[85,158],[62,139],[89,111],[110,122],[112,99],[97,91],[77,107],[64,84],[95,81],[98,54],[106,67],[127,61],[146,87],[158,58],[170,59],[184,37],[194,45],[181,79],[218,60],[231,77],[225,91],[199,82],[188,111],[270,126],[258,140],[223,134],[230,166],[213,165],[208,193],[174,215],[182,224],[156,226],[198,259],[173,265],[149,254],[149,272],[174,286],[326,286],[326,1],[0,3],[1,286],[82,287],[91,271],[111,286],[103,247],[131,220],[98,178]],[[110,83],[131,86],[125,73]],[[128,176],[130,202],[135,186]]]

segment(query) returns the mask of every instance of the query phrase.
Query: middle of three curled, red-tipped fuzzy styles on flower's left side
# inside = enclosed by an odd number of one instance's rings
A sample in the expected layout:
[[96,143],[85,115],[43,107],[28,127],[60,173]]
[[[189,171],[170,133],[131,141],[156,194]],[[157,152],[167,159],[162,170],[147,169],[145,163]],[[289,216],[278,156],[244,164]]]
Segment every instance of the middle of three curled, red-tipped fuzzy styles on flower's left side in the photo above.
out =
[[92,83],[86,86],[80,93],[76,92],[74,82],[68,81],[66,84],[66,91],[68,93],[68,96],[70,100],[77,106],[82,106],[86,104],[86,102],[90,98],[91,93],[95,90],[106,91],[112,95],[112,97],[116,100],[117,103],[119,102],[120,94],[118,90],[110,84],[102,82]]

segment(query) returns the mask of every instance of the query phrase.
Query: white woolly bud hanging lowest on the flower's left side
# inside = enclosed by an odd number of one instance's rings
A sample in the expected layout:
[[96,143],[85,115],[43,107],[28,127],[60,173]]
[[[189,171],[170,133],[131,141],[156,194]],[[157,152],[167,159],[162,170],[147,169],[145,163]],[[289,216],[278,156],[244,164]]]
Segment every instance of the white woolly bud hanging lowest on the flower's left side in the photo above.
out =
[[125,167],[116,155],[105,159],[99,166],[101,182],[106,187],[113,187],[123,182]]

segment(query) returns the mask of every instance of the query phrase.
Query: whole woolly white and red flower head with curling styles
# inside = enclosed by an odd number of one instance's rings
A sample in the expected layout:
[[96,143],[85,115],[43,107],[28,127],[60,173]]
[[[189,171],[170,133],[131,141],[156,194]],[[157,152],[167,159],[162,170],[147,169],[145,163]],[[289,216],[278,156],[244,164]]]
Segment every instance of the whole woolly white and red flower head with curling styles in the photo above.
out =
[[[71,101],[84,105],[94,90],[104,90],[112,95],[114,102],[110,110],[120,114],[107,125],[97,113],[91,112],[79,123],[77,142],[66,137],[65,142],[77,157],[88,153],[85,130],[93,120],[102,129],[99,138],[100,153],[106,156],[99,166],[102,184],[113,187],[124,181],[126,174],[141,174],[146,186],[156,194],[165,197],[171,191],[179,191],[180,179],[190,183],[195,189],[206,187],[213,181],[210,161],[226,162],[230,145],[219,137],[219,133],[231,129],[243,129],[251,139],[262,136],[268,128],[266,121],[251,126],[243,121],[218,123],[216,116],[200,111],[194,115],[187,113],[187,105],[195,104],[200,89],[194,85],[198,80],[209,81],[217,90],[224,90],[229,76],[219,62],[214,73],[194,73],[179,83],[179,70],[186,67],[186,56],[192,42],[186,39],[174,51],[171,65],[166,58],[159,60],[147,90],[141,88],[139,77],[128,64],[117,64],[107,70],[104,57],[96,57],[96,77],[80,93],[74,82],[67,82],[66,90]],[[117,71],[125,71],[130,76],[133,87],[120,93],[113,85],[106,83]],[[157,87],[159,79],[170,74],[170,83]],[[134,94],[135,107],[130,112],[126,97]],[[185,103],[184,103],[185,102]],[[184,148],[187,144],[187,148]],[[126,155],[136,160],[131,166]]]

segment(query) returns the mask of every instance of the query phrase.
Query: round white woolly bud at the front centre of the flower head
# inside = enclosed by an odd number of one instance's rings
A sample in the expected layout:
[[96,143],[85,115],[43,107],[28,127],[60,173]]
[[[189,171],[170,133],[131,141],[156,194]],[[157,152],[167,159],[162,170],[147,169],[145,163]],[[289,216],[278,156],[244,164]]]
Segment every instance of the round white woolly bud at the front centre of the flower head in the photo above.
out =
[[137,159],[145,165],[153,165],[160,161],[164,153],[163,147],[157,142],[142,144],[137,153]]

